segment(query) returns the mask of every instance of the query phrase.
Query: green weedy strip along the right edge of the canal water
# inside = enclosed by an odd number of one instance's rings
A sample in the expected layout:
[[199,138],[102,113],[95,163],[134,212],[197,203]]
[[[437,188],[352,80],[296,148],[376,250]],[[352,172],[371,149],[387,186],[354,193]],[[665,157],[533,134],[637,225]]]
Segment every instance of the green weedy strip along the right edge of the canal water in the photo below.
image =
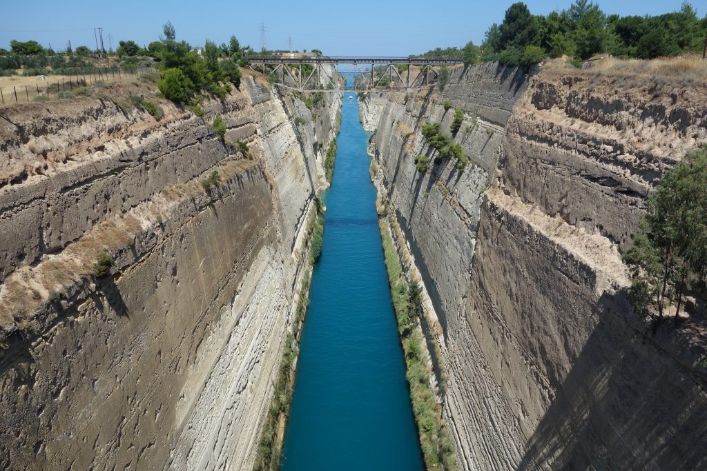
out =
[[431,371],[423,354],[424,340],[416,328],[423,315],[422,290],[416,281],[409,283],[405,278],[387,219],[380,217],[378,224],[425,467],[428,470],[439,470],[442,469],[441,464],[446,471],[456,470],[456,457],[449,431],[441,419],[441,406],[437,403],[430,383]]

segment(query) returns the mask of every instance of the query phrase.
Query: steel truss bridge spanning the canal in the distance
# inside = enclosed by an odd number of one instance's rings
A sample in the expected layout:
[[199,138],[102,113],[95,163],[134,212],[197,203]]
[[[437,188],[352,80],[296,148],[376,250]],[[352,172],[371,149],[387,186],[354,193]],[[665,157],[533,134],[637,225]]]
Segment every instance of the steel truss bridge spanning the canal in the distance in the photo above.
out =
[[[299,90],[317,91],[340,91],[345,88],[351,74],[360,78],[356,81],[358,84],[354,91],[368,91],[377,88],[385,77],[389,78],[387,88],[408,89],[416,85],[426,85],[431,73],[436,78],[439,77],[438,68],[464,63],[461,57],[250,56],[247,59],[251,68],[262,71],[266,76],[274,76],[275,80],[280,83],[286,84],[286,78],[288,78]],[[349,68],[332,76],[325,65],[347,65]],[[408,66],[407,71],[400,73],[397,66],[401,65]],[[305,67],[304,72],[303,66]],[[418,68],[412,76],[411,66]],[[308,71],[308,68],[311,68],[311,71]],[[317,80],[312,81],[315,76],[317,76]],[[311,86],[308,88],[310,82]],[[322,83],[327,83],[327,87],[320,88]]]

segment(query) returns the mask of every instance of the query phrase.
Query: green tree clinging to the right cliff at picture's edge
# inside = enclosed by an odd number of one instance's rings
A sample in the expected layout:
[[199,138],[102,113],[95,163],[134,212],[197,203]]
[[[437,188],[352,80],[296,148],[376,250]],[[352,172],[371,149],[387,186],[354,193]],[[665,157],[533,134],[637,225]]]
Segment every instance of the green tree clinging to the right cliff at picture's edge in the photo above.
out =
[[631,268],[629,294],[641,316],[658,318],[685,295],[707,297],[707,146],[687,155],[658,182],[648,213],[624,253]]

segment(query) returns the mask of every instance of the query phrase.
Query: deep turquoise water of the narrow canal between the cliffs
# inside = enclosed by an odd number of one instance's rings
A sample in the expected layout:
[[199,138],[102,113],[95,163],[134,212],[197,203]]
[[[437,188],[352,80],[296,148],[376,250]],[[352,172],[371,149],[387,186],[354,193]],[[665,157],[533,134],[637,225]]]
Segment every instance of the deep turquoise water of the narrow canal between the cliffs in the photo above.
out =
[[[349,95],[354,100],[349,100]],[[324,249],[312,278],[284,471],[422,470],[368,177],[368,134],[346,93]]]

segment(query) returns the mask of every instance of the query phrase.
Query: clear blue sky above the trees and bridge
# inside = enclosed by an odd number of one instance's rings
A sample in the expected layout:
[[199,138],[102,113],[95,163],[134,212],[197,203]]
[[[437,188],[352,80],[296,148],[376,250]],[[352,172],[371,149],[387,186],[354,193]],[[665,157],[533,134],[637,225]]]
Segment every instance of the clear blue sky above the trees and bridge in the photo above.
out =
[[[571,0],[530,0],[534,14],[568,8]],[[682,0],[600,0],[605,13],[660,14],[676,11]],[[177,38],[203,44],[208,37],[217,44],[235,34],[242,45],[260,48],[260,23],[265,24],[267,47],[322,49],[325,54],[407,56],[435,47],[479,44],[491,23],[501,23],[505,1],[401,1],[291,0],[291,1],[45,1],[5,2],[0,26],[0,47],[12,39],[37,40],[45,47],[95,48],[93,28],[103,27],[113,47],[118,40],[141,45],[157,40],[162,25],[172,21]],[[699,16],[707,13],[705,0],[693,0]]]

